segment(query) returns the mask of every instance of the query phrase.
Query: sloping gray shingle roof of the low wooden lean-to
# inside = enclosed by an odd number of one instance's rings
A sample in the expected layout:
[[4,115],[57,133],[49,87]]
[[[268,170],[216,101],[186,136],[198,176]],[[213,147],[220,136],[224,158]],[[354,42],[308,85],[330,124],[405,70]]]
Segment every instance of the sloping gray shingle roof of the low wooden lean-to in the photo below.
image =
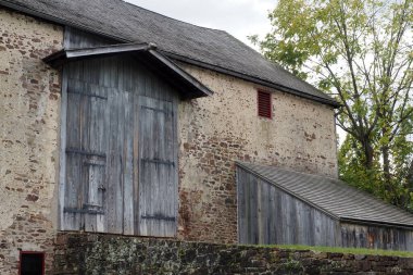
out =
[[413,214],[338,179],[251,163],[238,165],[338,220],[413,227]]

